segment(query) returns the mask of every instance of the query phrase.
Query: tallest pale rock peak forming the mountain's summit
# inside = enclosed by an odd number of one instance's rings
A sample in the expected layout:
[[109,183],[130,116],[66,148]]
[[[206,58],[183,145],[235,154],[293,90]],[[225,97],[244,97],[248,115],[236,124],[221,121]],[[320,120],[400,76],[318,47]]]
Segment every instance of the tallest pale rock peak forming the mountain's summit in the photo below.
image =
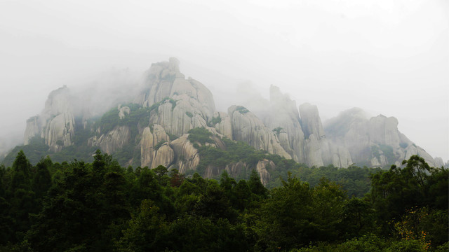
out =
[[185,79],[175,58],[152,64],[134,102],[157,105],[157,113],[152,113],[149,123],[159,124],[178,137],[194,127],[206,127],[215,112],[212,93],[198,81]]

